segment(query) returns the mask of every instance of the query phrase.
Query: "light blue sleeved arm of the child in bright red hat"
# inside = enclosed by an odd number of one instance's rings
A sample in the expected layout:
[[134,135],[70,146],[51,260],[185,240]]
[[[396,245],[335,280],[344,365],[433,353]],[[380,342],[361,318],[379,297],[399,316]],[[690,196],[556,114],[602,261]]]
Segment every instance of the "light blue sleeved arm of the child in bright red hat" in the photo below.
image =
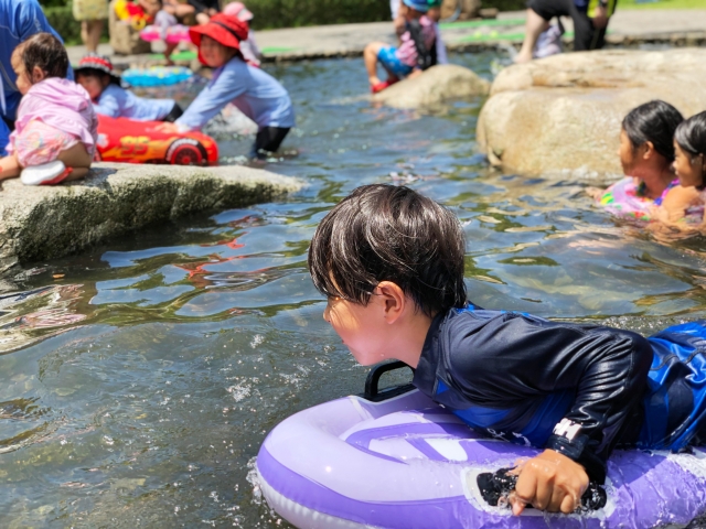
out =
[[226,65],[218,77],[201,90],[174,125],[179,126],[180,130],[201,130],[223,107],[244,94],[245,89],[242,75],[237,75],[235,68],[227,68]]

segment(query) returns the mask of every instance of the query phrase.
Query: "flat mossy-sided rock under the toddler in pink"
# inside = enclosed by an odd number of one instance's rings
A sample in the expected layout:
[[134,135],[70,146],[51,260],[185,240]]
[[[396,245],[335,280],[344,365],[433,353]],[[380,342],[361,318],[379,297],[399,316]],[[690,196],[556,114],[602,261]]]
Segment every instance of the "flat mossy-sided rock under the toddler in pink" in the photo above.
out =
[[244,166],[96,163],[83,181],[0,191],[0,277],[19,262],[53,259],[116,235],[196,212],[269,202],[301,188],[289,176]]

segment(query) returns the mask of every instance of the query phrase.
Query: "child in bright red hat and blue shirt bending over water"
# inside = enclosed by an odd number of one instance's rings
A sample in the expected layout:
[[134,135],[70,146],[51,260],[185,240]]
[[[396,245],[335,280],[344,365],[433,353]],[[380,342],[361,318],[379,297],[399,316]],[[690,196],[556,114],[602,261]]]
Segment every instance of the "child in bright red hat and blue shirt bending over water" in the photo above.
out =
[[[174,126],[182,132],[199,130],[233,102],[258,126],[252,155],[264,159],[268,152],[276,152],[295,126],[295,110],[282,85],[244,61],[240,43],[248,36],[247,23],[218,13],[207,24],[190,28],[189,33],[199,46],[199,60],[216,69]],[[174,126],[163,125],[161,129],[169,131]]]

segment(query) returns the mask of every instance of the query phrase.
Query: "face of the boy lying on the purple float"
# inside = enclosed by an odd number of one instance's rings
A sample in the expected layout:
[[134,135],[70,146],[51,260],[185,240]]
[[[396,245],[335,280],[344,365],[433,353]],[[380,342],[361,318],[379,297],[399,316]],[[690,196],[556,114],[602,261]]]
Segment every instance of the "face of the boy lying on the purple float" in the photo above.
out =
[[[323,319],[343,341],[362,366],[372,366],[386,359],[384,337],[387,326],[381,317],[381,296],[373,294],[367,305],[354,303],[338,296],[329,298]],[[389,353],[388,350],[386,353]]]

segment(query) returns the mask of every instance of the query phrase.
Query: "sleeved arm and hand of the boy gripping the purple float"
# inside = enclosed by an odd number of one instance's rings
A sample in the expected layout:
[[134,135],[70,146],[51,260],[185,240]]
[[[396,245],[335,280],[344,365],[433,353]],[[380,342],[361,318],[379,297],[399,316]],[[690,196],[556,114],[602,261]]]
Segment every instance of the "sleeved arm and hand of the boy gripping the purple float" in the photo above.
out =
[[[451,374],[479,406],[512,408],[525,399],[575,391],[575,400],[538,456],[518,468],[513,512],[526,504],[571,512],[588,479],[603,483],[606,460],[642,398],[652,364],[649,342],[607,327],[503,314],[452,337]],[[456,343],[454,343],[456,342]],[[458,380],[456,380],[458,382]]]

